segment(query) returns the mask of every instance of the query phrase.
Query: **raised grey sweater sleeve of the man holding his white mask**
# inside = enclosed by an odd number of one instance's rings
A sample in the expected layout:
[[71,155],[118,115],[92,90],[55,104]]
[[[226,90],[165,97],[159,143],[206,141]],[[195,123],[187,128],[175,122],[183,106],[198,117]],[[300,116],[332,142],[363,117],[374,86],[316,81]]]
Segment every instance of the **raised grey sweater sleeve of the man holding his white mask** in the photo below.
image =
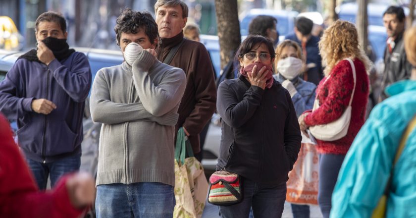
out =
[[149,75],[150,67],[156,61],[156,57],[146,51],[139,54],[132,66],[133,81],[144,108],[154,116],[162,116],[180,103],[186,77],[182,69],[171,68],[156,86]]

